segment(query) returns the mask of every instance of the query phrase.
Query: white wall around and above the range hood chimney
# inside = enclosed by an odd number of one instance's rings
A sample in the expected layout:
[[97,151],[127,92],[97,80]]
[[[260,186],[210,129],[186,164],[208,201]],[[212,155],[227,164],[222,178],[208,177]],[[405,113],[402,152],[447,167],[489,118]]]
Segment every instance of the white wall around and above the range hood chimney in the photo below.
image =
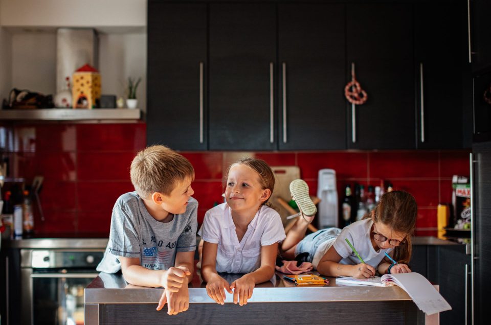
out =
[[76,26],[109,31],[99,34],[102,94],[126,98],[127,78],[141,77],[145,111],[146,0],[0,0],[0,99],[13,87],[55,95],[55,28]]

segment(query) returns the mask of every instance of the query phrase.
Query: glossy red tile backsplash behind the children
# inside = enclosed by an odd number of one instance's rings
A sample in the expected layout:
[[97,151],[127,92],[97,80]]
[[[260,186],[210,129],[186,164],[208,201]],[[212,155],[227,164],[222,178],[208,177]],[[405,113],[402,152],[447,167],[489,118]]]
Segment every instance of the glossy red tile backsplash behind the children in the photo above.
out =
[[[116,199],[132,191],[129,166],[146,145],[145,123],[35,124],[0,126],[0,150],[10,160],[10,178],[32,182],[44,176],[35,207],[39,234],[106,234]],[[310,194],[317,193],[319,169],[336,170],[338,197],[346,184],[391,182],[418,203],[416,235],[436,235],[438,203],[450,203],[452,175],[469,173],[468,150],[331,151],[248,153],[271,166],[299,166]],[[182,152],[195,168],[192,184],[199,202],[198,221],[223,202],[222,180],[230,152]],[[5,185],[4,191],[12,183]],[[34,204],[35,205],[35,204]]]

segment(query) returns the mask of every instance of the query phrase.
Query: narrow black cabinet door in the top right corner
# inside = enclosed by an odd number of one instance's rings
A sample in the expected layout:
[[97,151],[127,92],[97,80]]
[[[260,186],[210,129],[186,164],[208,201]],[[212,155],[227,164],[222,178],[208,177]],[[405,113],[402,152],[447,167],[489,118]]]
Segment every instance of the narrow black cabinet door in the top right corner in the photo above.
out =
[[491,68],[491,2],[489,0],[467,0],[471,7],[471,51],[474,72]]

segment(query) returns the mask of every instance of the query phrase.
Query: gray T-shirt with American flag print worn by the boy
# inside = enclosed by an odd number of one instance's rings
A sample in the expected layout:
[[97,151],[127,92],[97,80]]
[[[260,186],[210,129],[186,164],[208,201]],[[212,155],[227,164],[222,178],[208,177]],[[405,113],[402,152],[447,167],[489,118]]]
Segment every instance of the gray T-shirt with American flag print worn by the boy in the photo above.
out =
[[136,192],[123,194],[114,205],[109,242],[97,270],[118,272],[118,256],[140,258],[140,265],[151,270],[174,266],[176,252],[196,249],[197,208],[198,202],[190,198],[184,214],[160,222]]

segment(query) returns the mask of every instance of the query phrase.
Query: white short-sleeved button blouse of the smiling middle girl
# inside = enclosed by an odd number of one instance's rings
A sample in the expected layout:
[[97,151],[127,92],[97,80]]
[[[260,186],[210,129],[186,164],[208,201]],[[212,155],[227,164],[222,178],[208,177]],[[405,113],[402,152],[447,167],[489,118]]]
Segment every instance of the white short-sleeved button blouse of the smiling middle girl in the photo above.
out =
[[216,271],[227,273],[257,270],[261,264],[261,246],[272,245],[286,237],[280,215],[271,207],[262,205],[239,242],[227,203],[206,212],[198,235],[204,241],[218,244]]

